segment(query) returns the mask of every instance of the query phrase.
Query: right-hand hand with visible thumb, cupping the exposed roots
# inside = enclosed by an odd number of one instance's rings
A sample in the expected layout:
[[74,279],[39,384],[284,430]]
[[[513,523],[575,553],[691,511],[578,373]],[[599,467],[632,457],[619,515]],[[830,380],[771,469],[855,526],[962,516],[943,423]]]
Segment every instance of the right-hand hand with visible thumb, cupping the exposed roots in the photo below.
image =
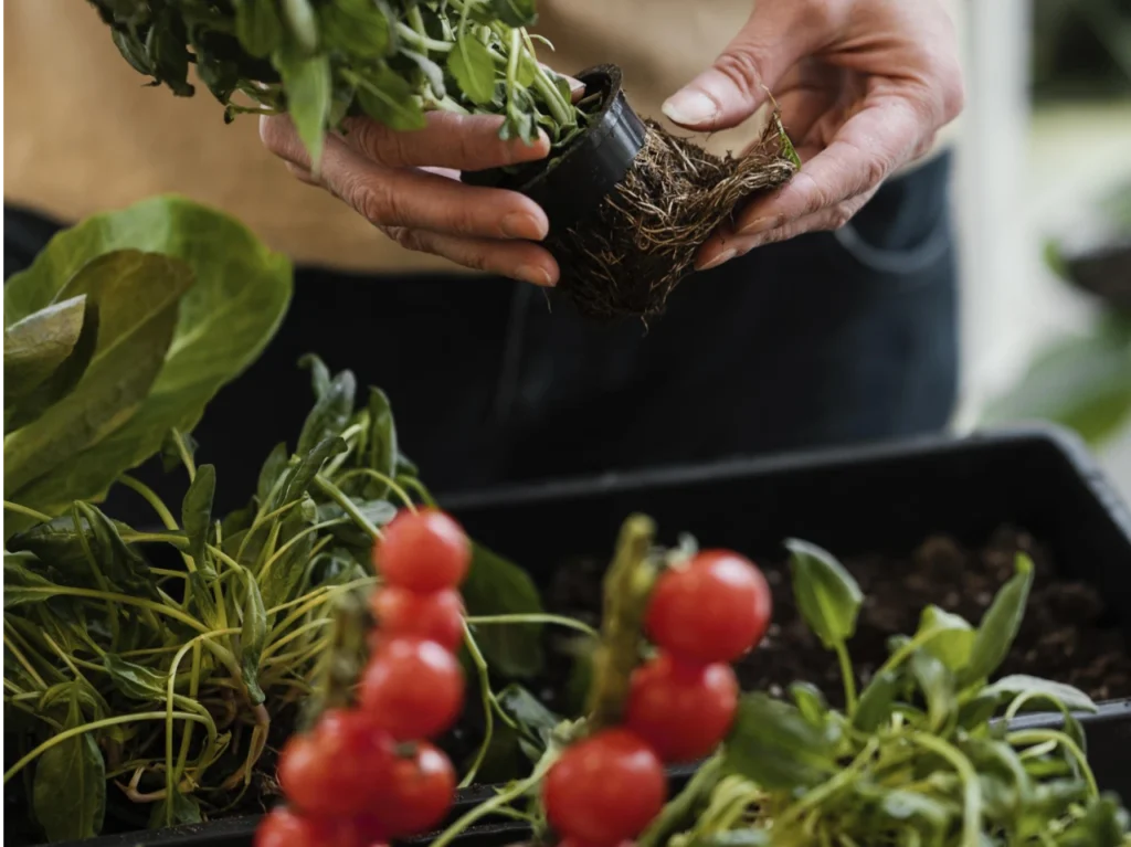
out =
[[757,0],[715,66],[664,113],[694,130],[735,127],[767,102],[803,167],[700,250],[699,268],[846,224],[962,109],[953,21],[942,0]]

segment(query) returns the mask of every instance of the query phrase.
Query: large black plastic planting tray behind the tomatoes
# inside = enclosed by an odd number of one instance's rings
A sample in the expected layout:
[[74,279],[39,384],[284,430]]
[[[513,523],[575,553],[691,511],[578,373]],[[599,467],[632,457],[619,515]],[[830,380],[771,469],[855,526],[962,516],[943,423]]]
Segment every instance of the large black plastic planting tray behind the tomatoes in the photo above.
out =
[[[1131,511],[1083,446],[1052,427],[607,474],[454,495],[443,504],[472,537],[521,562],[535,579],[566,556],[608,555],[633,511],[655,518],[667,543],[691,533],[756,559],[779,555],[782,539],[791,536],[849,556],[907,552],[939,531],[978,544],[1013,524],[1047,544],[1065,573],[1096,585],[1112,608],[1131,608]],[[1116,625],[1131,638],[1131,614],[1121,614]],[[1052,716],[1021,720],[1059,723]],[[1102,788],[1131,802],[1131,701],[1104,703],[1081,723]],[[673,788],[690,772],[672,771]],[[461,793],[454,816],[492,793]],[[83,844],[249,847],[257,821],[227,819]],[[523,824],[484,826],[460,844],[495,847],[527,835]]]

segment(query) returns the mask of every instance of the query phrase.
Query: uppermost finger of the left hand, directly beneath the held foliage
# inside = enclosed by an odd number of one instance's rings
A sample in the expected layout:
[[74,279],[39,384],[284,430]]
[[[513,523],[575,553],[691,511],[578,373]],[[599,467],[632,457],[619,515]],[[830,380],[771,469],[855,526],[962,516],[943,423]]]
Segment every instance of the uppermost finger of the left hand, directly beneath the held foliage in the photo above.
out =
[[541,130],[534,144],[499,138],[500,115],[431,112],[426,120],[424,129],[402,132],[369,118],[355,118],[345,123],[343,138],[354,150],[390,167],[484,171],[536,162],[550,154],[550,139]]

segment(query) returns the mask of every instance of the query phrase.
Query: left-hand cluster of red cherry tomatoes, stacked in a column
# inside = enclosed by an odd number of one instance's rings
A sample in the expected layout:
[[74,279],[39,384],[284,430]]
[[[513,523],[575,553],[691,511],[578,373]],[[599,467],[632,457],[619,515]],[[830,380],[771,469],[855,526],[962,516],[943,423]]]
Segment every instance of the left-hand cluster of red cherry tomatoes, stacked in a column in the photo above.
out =
[[323,712],[279,757],[287,806],[256,847],[377,847],[437,826],[456,790],[448,757],[429,743],[464,703],[456,658],[464,633],[457,587],[470,563],[459,525],[434,509],[404,511],[373,551],[383,585],[357,706]]

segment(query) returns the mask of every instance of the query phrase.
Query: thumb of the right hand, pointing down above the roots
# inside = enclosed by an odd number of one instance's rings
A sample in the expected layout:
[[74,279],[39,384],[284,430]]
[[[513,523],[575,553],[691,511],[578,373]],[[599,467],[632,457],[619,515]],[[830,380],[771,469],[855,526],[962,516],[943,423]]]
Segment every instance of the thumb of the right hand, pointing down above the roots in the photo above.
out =
[[[750,118],[794,64],[828,41],[839,21],[829,2],[759,0],[715,64],[672,95],[663,111],[694,130],[736,127]],[[836,5],[840,6],[840,5]]]

